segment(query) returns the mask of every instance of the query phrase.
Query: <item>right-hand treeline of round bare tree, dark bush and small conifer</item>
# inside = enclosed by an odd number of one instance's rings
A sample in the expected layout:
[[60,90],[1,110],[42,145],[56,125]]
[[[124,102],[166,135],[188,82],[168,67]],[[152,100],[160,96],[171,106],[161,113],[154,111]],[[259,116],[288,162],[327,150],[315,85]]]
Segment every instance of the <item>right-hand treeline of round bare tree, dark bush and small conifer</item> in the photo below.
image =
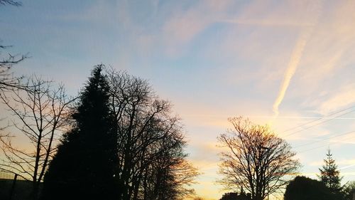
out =
[[[328,149],[319,180],[295,177],[300,162],[290,144],[268,125],[256,125],[244,117],[229,118],[232,128],[219,135],[219,183],[227,191],[222,199],[264,200],[274,194],[284,200],[352,200],[355,183],[342,185],[342,176]],[[201,199],[197,197],[195,199]],[[221,200],[222,200],[221,199]]]

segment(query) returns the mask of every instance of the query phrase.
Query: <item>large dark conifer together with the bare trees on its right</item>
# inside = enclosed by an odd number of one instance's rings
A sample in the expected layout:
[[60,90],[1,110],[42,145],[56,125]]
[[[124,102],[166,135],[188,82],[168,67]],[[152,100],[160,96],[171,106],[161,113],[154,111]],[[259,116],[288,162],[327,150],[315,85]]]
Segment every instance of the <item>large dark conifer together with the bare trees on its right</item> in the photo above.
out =
[[170,103],[145,80],[102,70],[95,67],[82,90],[74,125],[46,174],[44,199],[181,199],[190,194],[185,186],[197,171],[185,159],[180,120],[171,116]]

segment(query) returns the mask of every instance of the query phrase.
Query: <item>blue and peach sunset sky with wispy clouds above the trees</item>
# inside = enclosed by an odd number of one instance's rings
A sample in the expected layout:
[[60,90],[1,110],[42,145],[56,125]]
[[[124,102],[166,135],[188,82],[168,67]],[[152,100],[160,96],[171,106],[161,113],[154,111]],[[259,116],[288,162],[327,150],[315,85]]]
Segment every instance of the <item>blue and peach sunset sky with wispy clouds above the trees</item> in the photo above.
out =
[[270,125],[316,179],[328,147],[355,180],[355,1],[29,1],[0,6],[17,74],[77,94],[93,65],[147,79],[182,118],[197,196],[219,199],[228,117]]

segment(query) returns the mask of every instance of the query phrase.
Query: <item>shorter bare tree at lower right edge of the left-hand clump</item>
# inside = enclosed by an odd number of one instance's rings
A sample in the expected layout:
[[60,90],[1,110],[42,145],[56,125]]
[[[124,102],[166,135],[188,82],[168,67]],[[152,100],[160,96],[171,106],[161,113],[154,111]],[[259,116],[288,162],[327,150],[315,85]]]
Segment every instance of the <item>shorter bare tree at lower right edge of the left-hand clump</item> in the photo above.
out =
[[162,141],[153,157],[153,162],[147,163],[148,169],[143,171],[143,185],[146,192],[145,199],[184,199],[193,194],[190,185],[197,176],[197,170],[185,160],[186,154],[182,152],[185,142],[181,136],[166,138]]

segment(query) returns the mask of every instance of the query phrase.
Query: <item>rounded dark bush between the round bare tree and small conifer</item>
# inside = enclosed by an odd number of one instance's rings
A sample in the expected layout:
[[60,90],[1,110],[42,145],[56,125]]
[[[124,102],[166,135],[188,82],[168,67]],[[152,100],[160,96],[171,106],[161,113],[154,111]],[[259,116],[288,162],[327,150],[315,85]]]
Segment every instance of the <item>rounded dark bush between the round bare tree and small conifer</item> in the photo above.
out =
[[284,200],[339,200],[322,182],[307,177],[295,177],[284,194]]

